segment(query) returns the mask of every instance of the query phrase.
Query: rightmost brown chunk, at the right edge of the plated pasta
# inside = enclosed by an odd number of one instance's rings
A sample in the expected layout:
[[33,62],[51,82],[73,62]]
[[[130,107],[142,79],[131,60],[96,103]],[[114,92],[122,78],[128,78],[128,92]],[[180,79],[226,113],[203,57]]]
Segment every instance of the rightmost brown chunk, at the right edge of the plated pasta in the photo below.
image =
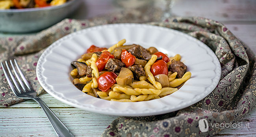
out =
[[182,76],[187,71],[187,66],[181,61],[175,61],[174,59],[171,61],[171,64],[168,66],[169,71],[177,72],[177,78],[182,78]]

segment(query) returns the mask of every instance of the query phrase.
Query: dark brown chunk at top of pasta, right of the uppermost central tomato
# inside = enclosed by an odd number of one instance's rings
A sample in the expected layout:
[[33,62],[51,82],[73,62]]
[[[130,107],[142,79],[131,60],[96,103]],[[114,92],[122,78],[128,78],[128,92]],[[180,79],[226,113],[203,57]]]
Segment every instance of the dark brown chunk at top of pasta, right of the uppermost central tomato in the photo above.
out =
[[140,45],[136,45],[127,51],[130,52],[132,55],[134,55],[138,59],[143,59],[148,61],[151,58],[151,55],[148,53],[148,51],[145,48],[141,47]]

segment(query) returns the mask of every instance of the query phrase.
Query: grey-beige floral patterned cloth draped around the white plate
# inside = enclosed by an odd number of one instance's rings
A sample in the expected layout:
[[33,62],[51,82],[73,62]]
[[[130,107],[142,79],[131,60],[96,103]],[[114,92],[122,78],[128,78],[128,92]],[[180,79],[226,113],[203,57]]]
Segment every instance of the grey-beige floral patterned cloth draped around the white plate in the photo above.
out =
[[[34,36],[1,38],[0,61],[16,58],[26,78],[40,94],[43,89],[37,81],[35,67],[45,47],[69,33],[86,27],[106,23],[151,22],[159,20],[160,17],[156,13],[148,15],[132,11],[93,20],[66,19]],[[200,17],[176,17],[149,24],[185,32],[208,45],[221,63],[219,84],[200,102],[177,112],[148,117],[119,117],[102,133],[103,137],[210,136],[223,129],[212,127],[211,124],[236,123],[255,107],[256,57],[222,23]],[[22,101],[13,95],[2,68],[0,69],[0,103],[9,106]],[[207,132],[200,132],[200,119],[208,121]]]

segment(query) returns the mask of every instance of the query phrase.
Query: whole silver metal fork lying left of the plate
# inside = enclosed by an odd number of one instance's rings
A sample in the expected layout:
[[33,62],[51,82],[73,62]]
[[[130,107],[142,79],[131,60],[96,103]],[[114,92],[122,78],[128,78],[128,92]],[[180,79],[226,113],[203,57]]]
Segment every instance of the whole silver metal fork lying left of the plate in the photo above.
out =
[[[16,59],[14,59],[14,63],[15,63],[15,65],[13,64],[13,61],[10,60],[11,66],[9,67],[8,62],[5,61],[6,68],[9,72],[9,75],[4,67],[4,63],[1,62],[1,65],[4,70],[4,75],[6,76],[7,82],[9,83],[10,88],[13,91],[13,93],[15,94],[15,96],[22,98],[22,99],[33,99],[34,101],[36,101],[41,106],[43,111],[45,112],[47,119],[50,121],[50,123],[51,123],[52,127],[54,128],[54,131],[56,132],[58,137],[74,137],[74,135],[69,131],[69,129],[52,112],[52,110],[50,110],[50,108],[48,108],[48,106],[39,97],[37,97],[37,92],[35,92],[35,90],[32,89],[32,87],[26,80],[24,74],[20,70],[20,67],[19,67]],[[15,66],[16,66],[18,72],[17,72]],[[13,76],[13,74],[11,72],[11,68],[18,80],[18,83],[15,80],[15,77]],[[9,78],[9,76],[11,76],[12,81]],[[23,81],[21,79],[23,79]],[[14,83],[14,85],[13,85],[13,83]]]

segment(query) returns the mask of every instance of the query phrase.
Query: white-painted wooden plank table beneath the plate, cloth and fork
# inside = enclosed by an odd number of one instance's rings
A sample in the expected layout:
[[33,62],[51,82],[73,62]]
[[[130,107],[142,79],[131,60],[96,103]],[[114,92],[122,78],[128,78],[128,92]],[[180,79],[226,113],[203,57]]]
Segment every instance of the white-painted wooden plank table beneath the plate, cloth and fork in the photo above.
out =
[[[111,0],[83,0],[74,18],[91,18],[110,13],[117,8]],[[255,0],[179,0],[173,8],[178,16],[204,16],[223,22],[238,38],[256,53]],[[0,34],[4,35],[4,34]],[[69,106],[47,93],[41,99],[78,137],[99,136],[117,116],[102,115]],[[256,136],[256,109],[240,122],[249,122],[250,128],[230,128],[216,136]],[[54,137],[45,114],[35,101],[27,100],[10,107],[0,106],[0,137]]]

